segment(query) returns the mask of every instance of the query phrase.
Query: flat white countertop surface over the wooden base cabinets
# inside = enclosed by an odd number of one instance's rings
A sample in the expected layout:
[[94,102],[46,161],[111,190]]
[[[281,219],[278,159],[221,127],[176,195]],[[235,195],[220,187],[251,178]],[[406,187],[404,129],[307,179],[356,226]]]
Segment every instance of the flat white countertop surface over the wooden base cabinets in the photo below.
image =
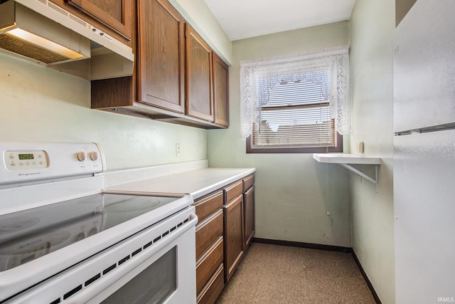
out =
[[137,182],[117,184],[105,189],[126,192],[191,194],[193,199],[196,200],[255,171],[255,168],[206,167],[161,177],[141,179]]

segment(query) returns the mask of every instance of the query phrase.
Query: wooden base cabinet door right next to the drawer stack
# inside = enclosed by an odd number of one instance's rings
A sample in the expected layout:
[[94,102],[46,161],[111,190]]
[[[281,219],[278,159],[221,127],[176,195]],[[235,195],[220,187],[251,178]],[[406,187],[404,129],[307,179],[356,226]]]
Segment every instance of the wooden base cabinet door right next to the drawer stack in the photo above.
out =
[[243,242],[243,196],[232,199],[223,207],[225,217],[225,282],[237,268],[245,251]]

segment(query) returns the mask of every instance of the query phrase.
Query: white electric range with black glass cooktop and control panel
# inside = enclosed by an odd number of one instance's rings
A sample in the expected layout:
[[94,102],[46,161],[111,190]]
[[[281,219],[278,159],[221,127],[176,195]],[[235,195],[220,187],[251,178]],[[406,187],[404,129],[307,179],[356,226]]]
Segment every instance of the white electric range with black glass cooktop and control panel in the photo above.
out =
[[196,303],[191,196],[103,191],[95,143],[0,153],[0,303]]

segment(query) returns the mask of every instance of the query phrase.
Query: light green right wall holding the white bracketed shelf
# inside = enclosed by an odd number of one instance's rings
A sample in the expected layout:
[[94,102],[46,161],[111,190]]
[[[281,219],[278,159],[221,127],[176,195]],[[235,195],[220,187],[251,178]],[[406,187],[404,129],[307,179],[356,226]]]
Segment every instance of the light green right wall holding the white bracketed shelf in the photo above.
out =
[[[349,21],[351,151],[381,157],[378,193],[351,174],[353,249],[382,303],[395,303],[392,103],[395,1],[357,0]],[[365,168],[366,169],[366,168]]]

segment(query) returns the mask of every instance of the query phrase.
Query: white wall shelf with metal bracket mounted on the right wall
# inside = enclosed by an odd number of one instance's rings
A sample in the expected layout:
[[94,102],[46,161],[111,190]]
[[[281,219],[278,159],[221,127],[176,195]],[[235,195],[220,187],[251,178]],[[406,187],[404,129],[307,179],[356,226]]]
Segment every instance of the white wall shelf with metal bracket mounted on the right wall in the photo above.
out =
[[[313,158],[318,162],[324,162],[327,164],[339,164],[342,167],[360,175],[364,179],[372,182],[376,185],[376,192],[378,192],[378,166],[381,164],[379,157],[368,157],[358,154],[346,154],[346,153],[314,153]],[[351,166],[351,164],[371,164],[375,166],[375,178],[369,177],[367,174],[361,172],[359,169]]]

